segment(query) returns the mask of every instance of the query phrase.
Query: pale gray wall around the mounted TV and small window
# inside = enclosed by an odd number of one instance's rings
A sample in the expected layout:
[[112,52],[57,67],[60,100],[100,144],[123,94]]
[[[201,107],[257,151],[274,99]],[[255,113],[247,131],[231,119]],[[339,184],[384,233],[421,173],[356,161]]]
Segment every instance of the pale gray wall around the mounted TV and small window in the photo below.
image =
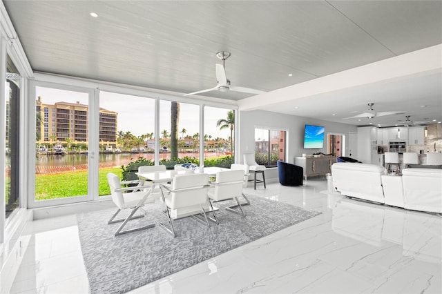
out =
[[327,153],[327,144],[323,149],[304,149],[304,128],[305,124],[325,126],[325,138],[329,133],[345,135],[345,150],[348,150],[348,133],[357,132],[356,126],[349,124],[338,124],[330,121],[310,119],[308,117],[296,117],[294,115],[283,115],[281,113],[263,110],[251,110],[240,112],[240,162],[244,153],[253,153],[255,148],[255,127],[266,126],[271,128],[282,128],[288,131],[288,148],[286,161],[294,163],[295,157],[302,153],[311,154],[314,152]]

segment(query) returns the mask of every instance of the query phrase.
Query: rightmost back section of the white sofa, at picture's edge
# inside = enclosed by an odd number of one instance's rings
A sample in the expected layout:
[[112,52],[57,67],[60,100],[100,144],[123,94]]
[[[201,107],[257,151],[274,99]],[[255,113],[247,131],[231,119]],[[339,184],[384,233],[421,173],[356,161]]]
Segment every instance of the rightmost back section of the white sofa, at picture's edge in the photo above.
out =
[[407,168],[402,184],[406,209],[442,213],[442,169]]

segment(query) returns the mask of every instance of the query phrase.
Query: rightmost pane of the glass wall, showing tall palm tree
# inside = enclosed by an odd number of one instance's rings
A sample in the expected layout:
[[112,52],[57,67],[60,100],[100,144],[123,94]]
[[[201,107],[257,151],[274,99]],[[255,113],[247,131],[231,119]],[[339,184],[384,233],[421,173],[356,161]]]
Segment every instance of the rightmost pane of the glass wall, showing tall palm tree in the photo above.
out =
[[204,166],[230,168],[234,162],[235,112],[204,106]]

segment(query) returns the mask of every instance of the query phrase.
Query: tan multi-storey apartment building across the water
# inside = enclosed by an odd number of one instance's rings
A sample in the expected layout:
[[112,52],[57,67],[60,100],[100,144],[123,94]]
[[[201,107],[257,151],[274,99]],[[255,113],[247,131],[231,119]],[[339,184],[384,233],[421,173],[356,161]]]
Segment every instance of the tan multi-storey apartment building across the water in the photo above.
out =
[[[37,139],[38,144],[88,144],[88,110],[85,104],[57,102],[44,104],[37,99]],[[117,144],[117,112],[100,108],[99,141],[109,147]]]

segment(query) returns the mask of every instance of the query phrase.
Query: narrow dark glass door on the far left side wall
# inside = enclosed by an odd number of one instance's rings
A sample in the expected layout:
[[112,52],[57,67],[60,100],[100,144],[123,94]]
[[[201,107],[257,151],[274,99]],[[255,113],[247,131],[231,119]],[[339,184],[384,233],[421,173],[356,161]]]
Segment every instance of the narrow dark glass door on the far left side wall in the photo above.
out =
[[6,109],[6,219],[19,207],[19,109],[21,77],[10,57],[7,57],[5,101],[1,108]]

